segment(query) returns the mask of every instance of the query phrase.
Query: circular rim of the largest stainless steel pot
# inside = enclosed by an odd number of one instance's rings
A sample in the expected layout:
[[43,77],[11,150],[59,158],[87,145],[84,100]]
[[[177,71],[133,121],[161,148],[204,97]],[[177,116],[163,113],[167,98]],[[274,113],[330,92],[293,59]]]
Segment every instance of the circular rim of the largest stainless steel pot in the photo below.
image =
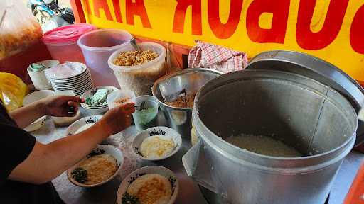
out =
[[[265,69],[255,69],[255,70],[245,70],[245,71],[237,71],[237,72],[271,72],[271,73],[281,73],[281,74],[286,74],[286,75],[293,75],[293,76],[296,76],[296,77],[301,77],[301,78],[305,78],[307,80],[311,80],[313,81],[314,83],[316,84],[320,84],[321,86],[326,86],[325,84],[322,84],[321,82],[319,81],[316,81],[314,79],[311,79],[309,77],[304,77],[300,74],[293,74],[293,73],[290,73],[290,72],[283,72],[283,71],[277,71],[277,70],[265,70]],[[230,72],[228,74],[224,74],[223,76],[219,76],[219,77],[216,77],[215,80],[218,80],[220,78],[223,78],[223,77],[228,77],[232,74],[235,74],[236,72]],[[213,81],[215,81],[213,80]],[[230,81],[236,81],[237,79],[235,80],[230,80]],[[354,127],[354,131],[353,131],[353,134],[348,137],[348,139],[343,142],[343,144],[339,145],[338,147],[335,147],[327,152],[323,152],[323,153],[320,153],[320,154],[314,154],[314,155],[310,155],[310,156],[304,156],[304,157],[273,157],[273,156],[267,156],[267,155],[264,155],[264,154],[257,154],[255,152],[250,152],[248,150],[246,151],[242,151],[239,147],[236,147],[235,145],[231,145],[229,142],[226,142],[225,140],[223,140],[221,137],[219,137],[218,135],[215,135],[214,132],[212,132],[211,130],[209,130],[207,128],[207,126],[203,123],[203,121],[200,119],[200,116],[199,116],[199,113],[198,113],[198,98],[200,98],[200,94],[201,94],[201,90],[203,90],[203,88],[205,86],[208,86],[210,83],[212,83],[213,81],[208,81],[208,83],[206,83],[203,87],[201,87],[201,89],[197,92],[196,94],[196,98],[195,98],[195,101],[194,101],[194,106],[193,106],[193,114],[192,114],[192,117],[193,117],[193,123],[195,124],[195,128],[196,128],[196,131],[197,132],[200,132],[200,129],[202,129],[203,131],[207,131],[208,134],[200,134],[200,137],[203,138],[203,140],[207,140],[209,142],[209,145],[211,145],[211,147],[215,148],[215,150],[219,151],[220,153],[223,153],[225,155],[230,155],[230,152],[227,152],[225,151],[224,149],[222,149],[221,147],[219,147],[219,145],[215,144],[215,142],[211,141],[211,139],[213,137],[215,137],[217,140],[219,140],[220,142],[223,142],[224,144],[227,144],[229,147],[231,147],[232,149],[237,149],[239,150],[239,152],[242,152],[242,154],[247,154],[249,155],[250,157],[259,157],[259,158],[264,158],[264,159],[271,159],[271,160],[276,160],[276,161],[299,161],[299,160],[306,160],[306,159],[316,159],[316,158],[319,158],[319,157],[325,157],[326,155],[328,154],[331,154],[333,152],[337,152],[339,149],[342,149],[343,147],[345,147],[346,145],[348,145],[348,143],[353,139],[353,137],[355,137],[355,132],[358,128],[358,120],[355,120],[355,127]],[[326,86],[328,89],[331,89],[331,90],[334,90],[332,89],[330,86]],[[337,91],[336,91],[337,92]],[[341,97],[345,98],[345,96],[342,96],[340,93],[338,93]],[[346,98],[345,98],[346,99]],[[350,104],[350,102],[346,99],[346,101]],[[355,109],[353,108],[353,106],[350,106],[350,110],[356,115],[356,112],[355,112]],[[235,159],[241,159],[239,157],[237,157],[236,155],[232,155]]]

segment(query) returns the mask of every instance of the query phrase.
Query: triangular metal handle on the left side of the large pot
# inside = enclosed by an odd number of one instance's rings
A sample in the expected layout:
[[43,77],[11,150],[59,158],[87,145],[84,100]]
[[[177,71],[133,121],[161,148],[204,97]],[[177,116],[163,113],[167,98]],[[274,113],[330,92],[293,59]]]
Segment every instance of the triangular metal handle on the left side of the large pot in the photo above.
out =
[[218,193],[213,179],[211,177],[210,164],[207,163],[203,143],[199,140],[196,145],[191,147],[188,152],[183,155],[182,163],[186,173],[200,186],[208,188],[214,193]]

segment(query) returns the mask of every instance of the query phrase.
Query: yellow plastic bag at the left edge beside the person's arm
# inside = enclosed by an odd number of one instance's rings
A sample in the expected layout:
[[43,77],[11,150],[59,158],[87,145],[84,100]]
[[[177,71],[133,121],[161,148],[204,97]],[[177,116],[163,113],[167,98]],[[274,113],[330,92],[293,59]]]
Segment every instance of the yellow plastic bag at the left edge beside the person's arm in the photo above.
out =
[[14,74],[0,72],[0,99],[6,110],[12,111],[23,105],[28,86]]

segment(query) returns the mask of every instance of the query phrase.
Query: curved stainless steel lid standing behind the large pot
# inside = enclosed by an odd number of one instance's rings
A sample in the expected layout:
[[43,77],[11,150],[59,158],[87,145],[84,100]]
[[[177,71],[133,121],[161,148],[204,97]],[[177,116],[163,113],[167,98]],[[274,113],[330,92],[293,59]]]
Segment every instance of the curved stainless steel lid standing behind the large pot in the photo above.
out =
[[[247,69],[273,69],[300,74],[326,84],[345,96],[359,113],[364,107],[364,89],[333,64],[301,52],[273,50],[250,60]],[[364,122],[359,121],[355,145],[364,141]]]

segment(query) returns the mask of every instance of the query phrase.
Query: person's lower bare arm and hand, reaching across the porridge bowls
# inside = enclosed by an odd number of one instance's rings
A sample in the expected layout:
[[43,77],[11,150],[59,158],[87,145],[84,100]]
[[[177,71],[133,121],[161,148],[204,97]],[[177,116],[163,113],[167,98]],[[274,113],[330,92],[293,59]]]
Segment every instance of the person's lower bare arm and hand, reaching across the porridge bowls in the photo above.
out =
[[36,142],[31,154],[16,166],[8,179],[41,184],[55,179],[63,171],[84,158],[109,135],[129,127],[134,103],[109,110],[102,120],[77,135],[42,145]]

